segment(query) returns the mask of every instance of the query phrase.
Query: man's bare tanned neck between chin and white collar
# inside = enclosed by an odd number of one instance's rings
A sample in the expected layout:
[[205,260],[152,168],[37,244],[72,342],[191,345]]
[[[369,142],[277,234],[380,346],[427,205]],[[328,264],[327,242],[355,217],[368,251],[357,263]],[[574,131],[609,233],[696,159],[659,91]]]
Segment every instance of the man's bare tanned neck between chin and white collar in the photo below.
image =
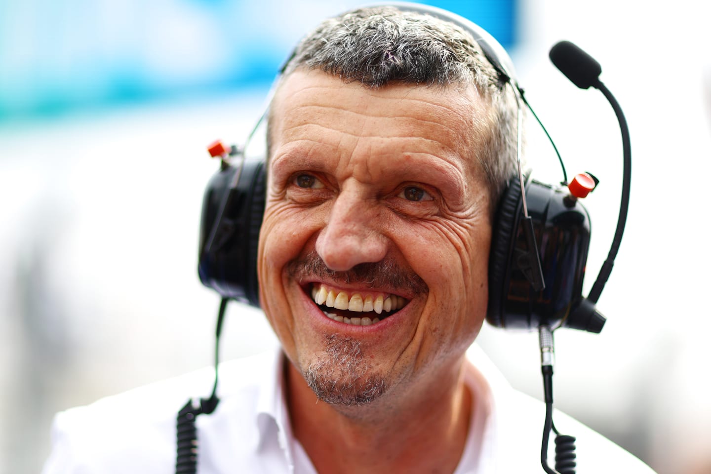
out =
[[[368,405],[329,405],[316,399],[287,361],[287,403],[294,436],[323,473],[452,473],[464,451],[471,393],[463,362],[427,387],[392,389]],[[413,395],[415,394],[415,395]]]

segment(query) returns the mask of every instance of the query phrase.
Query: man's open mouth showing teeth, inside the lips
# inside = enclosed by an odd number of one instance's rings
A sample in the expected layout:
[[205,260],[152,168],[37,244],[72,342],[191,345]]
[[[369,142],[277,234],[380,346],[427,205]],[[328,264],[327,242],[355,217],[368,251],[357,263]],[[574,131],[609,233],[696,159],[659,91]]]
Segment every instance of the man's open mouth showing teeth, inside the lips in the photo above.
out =
[[333,321],[358,326],[380,323],[410,303],[392,293],[344,291],[322,283],[311,285],[311,298]]

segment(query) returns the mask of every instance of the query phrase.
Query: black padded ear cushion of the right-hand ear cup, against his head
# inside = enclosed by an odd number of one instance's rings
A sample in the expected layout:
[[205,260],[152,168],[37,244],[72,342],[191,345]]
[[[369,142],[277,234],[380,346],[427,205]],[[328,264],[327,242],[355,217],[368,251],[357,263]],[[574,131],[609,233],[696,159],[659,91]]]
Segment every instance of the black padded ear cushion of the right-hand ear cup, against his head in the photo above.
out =
[[507,275],[510,274],[511,247],[518,235],[520,203],[521,186],[516,175],[509,180],[508,187],[501,195],[491,232],[486,321],[497,328],[506,327],[503,320],[508,289],[505,285]]

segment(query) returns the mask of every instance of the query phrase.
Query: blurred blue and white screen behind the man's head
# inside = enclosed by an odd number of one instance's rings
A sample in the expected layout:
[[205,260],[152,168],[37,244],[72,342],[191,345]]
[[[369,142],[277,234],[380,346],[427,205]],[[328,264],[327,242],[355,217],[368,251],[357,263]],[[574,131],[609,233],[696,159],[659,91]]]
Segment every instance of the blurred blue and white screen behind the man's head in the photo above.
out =
[[[0,122],[267,85],[305,31],[362,1],[0,0]],[[440,0],[515,41],[515,0]]]

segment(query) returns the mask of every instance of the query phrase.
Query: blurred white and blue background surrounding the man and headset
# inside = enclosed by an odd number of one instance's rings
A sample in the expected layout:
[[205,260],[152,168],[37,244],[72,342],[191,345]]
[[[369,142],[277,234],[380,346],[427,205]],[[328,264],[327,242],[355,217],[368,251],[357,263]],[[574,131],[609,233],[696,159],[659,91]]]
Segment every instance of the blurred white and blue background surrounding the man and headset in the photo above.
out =
[[[600,178],[586,294],[616,225],[621,140],[602,94],[547,53],[567,39],[602,64],[631,129],[629,221],[602,334],[556,333],[556,404],[658,473],[711,473],[708,2],[425,3],[503,43],[568,173]],[[294,43],[358,4],[0,0],[0,472],[41,469],[56,411],[210,365],[205,146],[244,139]],[[537,178],[560,181],[533,124],[528,152]],[[275,343],[258,311],[230,306],[223,359]],[[487,326],[479,344],[540,398],[536,334]]]

